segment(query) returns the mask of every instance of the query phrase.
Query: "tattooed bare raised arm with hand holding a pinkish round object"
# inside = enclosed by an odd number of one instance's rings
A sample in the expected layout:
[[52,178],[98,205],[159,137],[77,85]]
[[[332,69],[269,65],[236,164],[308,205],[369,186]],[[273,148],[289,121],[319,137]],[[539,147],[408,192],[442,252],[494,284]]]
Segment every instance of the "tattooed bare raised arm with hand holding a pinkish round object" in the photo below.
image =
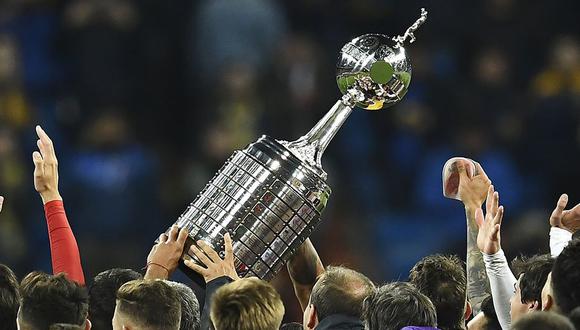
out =
[[490,295],[489,281],[485,272],[485,265],[481,252],[477,248],[478,227],[475,221],[475,212],[485,201],[491,181],[479,164],[476,164],[476,175],[467,176],[465,164],[457,163],[459,172],[459,199],[465,206],[467,220],[467,297],[471,303],[473,314],[479,313],[481,303]]

